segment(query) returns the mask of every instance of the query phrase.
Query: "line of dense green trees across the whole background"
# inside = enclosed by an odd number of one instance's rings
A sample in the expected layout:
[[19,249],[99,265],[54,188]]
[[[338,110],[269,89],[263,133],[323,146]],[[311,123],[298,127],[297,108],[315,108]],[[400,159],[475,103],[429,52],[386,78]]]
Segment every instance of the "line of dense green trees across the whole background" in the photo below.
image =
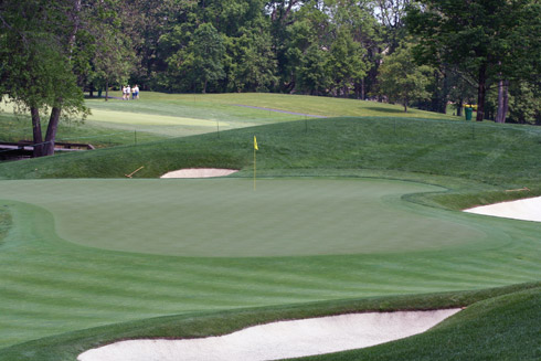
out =
[[0,92],[30,110],[42,153],[62,116],[87,113],[83,91],[128,82],[541,124],[538,0],[7,0],[0,42]]

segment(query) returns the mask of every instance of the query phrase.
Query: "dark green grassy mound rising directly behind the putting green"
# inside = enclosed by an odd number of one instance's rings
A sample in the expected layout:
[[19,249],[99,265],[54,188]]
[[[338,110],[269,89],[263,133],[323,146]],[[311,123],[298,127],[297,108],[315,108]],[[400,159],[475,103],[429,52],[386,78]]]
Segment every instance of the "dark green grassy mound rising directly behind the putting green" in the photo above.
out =
[[[261,177],[431,182],[462,190],[437,197],[452,209],[541,194],[541,129],[401,118],[311,119],[1,163],[0,179],[125,178],[141,166],[135,178],[193,167],[236,168],[251,177],[254,135]],[[524,187],[529,191],[505,192]]]

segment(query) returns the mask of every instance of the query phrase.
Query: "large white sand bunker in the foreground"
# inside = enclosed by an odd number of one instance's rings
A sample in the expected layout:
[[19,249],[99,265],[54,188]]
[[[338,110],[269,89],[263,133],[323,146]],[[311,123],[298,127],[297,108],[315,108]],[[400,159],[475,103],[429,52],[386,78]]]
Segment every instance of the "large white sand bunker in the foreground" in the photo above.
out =
[[204,339],[130,340],[88,350],[79,361],[256,361],[365,348],[421,333],[459,309],[351,314],[279,321]]

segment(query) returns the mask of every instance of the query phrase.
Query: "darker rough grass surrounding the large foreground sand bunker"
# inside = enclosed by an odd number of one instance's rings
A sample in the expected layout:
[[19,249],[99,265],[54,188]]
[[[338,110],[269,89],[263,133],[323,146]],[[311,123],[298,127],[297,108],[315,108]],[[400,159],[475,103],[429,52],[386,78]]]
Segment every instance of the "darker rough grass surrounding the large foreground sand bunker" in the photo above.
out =
[[2,349],[0,360],[74,360],[81,352],[124,339],[201,338],[285,319],[362,311],[426,310],[469,306],[433,330],[364,350],[303,360],[489,360],[539,358],[540,284],[350,299],[220,312],[198,312],[117,323]]

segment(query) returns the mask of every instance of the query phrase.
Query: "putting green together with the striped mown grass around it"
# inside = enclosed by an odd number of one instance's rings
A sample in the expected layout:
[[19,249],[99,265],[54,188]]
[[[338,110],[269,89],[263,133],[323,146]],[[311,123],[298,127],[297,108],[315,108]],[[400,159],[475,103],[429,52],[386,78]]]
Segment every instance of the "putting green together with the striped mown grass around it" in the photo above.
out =
[[[1,181],[0,346],[238,307],[537,279],[539,224],[359,178]],[[513,272],[509,272],[513,269]],[[35,327],[40,325],[40,327]]]

